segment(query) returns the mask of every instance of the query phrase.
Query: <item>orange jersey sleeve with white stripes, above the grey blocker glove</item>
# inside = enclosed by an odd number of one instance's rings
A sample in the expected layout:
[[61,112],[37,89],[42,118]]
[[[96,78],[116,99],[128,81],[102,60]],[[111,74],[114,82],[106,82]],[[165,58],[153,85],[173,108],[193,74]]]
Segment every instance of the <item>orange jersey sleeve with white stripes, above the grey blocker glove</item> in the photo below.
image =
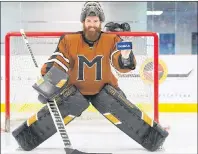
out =
[[51,67],[55,66],[62,71],[67,72],[69,68],[69,52],[67,47],[66,35],[62,35],[59,39],[54,53],[49,57],[49,59],[43,64],[41,68],[41,75],[44,76]]

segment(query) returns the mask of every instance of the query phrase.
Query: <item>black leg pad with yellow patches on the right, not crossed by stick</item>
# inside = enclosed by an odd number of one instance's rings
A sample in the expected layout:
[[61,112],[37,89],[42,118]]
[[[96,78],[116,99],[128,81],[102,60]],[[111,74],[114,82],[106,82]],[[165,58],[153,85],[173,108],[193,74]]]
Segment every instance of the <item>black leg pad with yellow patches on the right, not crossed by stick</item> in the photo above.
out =
[[105,118],[149,151],[159,149],[168,136],[166,130],[110,85],[93,98],[92,104]]

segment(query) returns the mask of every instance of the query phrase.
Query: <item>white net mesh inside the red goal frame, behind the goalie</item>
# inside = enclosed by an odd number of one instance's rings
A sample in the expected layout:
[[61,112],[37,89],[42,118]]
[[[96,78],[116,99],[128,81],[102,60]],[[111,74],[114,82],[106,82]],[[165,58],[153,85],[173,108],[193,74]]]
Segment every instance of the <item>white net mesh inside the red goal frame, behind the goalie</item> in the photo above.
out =
[[[29,44],[39,67],[41,67],[54,52],[59,37],[60,36],[28,37]],[[126,74],[115,72],[119,80],[119,86],[132,103],[139,106],[154,118],[154,39],[153,37],[144,36],[122,36],[122,39],[133,43],[133,51],[137,59],[137,68]],[[40,70],[35,68],[22,37],[11,37],[9,52],[11,56],[10,124],[11,129],[13,129],[18,123],[21,123],[36,113],[43,105],[38,102],[37,93],[32,88],[32,85],[40,75]],[[5,78],[3,80],[5,80]],[[93,107],[90,107],[78,119],[96,120],[103,119],[103,117],[100,116]]]

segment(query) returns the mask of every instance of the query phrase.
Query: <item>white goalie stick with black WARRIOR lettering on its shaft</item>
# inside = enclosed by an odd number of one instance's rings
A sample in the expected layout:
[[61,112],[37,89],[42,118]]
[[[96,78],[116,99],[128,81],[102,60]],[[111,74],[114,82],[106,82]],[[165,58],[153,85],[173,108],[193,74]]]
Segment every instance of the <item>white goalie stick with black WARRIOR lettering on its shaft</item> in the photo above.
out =
[[[20,29],[20,33],[22,35],[22,38],[27,46],[27,49],[31,55],[31,58],[34,62],[34,65],[36,68],[39,68],[38,67],[38,64],[36,62],[36,59],[34,57],[34,54],[32,52],[32,49],[28,43],[28,39],[27,39],[27,36],[25,34],[25,31],[23,29]],[[66,154],[102,154],[102,153],[85,153],[85,152],[81,152],[81,151],[78,151],[77,149],[73,149],[72,148],[72,145],[71,145],[71,142],[70,142],[70,139],[69,139],[69,136],[67,134],[67,131],[66,131],[66,128],[65,128],[65,124],[64,124],[64,121],[63,121],[63,118],[61,116],[61,113],[60,113],[60,110],[56,104],[56,100],[54,99],[53,101],[51,102],[48,102],[47,103],[47,106],[49,108],[49,111],[50,111],[50,114],[52,116],[52,119],[54,121],[54,125],[56,126],[56,129],[57,131],[59,132],[61,138],[62,138],[62,141],[64,143],[64,150],[66,152]],[[60,121],[61,119],[61,121]],[[62,129],[64,128],[64,129]],[[112,153],[103,153],[103,154],[112,154]]]

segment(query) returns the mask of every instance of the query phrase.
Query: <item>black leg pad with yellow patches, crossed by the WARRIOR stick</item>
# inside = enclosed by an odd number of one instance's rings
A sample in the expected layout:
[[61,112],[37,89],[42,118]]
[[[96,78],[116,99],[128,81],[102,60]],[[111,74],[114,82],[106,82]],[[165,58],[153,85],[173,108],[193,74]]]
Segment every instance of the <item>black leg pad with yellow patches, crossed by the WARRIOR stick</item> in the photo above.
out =
[[[57,106],[65,125],[67,125],[88,108],[89,102],[74,86],[71,86],[64,91],[62,101],[57,101]],[[23,150],[30,151],[56,132],[56,127],[46,105],[16,128],[12,135]]]

